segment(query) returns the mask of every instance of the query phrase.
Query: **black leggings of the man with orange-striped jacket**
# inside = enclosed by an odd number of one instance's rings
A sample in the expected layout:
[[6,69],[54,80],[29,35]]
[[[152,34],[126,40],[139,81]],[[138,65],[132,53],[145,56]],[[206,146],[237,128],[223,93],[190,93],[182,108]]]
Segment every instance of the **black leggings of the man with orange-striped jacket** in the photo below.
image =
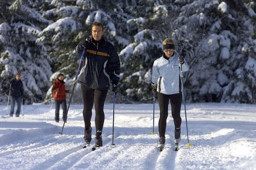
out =
[[96,132],[99,132],[98,134],[101,135],[105,119],[103,108],[108,90],[96,90],[85,85],[81,85],[81,90],[84,101],[83,116],[85,128],[90,128],[94,102]]

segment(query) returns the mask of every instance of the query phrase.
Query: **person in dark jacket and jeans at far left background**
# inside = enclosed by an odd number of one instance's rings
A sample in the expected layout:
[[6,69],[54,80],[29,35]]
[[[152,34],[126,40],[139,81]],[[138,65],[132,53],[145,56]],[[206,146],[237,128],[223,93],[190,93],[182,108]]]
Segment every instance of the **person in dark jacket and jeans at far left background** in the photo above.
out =
[[20,105],[21,105],[21,98],[23,97],[23,83],[20,80],[20,74],[17,73],[15,75],[15,78],[12,79],[10,82],[10,88],[11,88],[11,112],[10,116],[14,113],[14,107],[15,107],[15,101],[17,102],[17,111],[16,111],[16,117],[20,116]]

